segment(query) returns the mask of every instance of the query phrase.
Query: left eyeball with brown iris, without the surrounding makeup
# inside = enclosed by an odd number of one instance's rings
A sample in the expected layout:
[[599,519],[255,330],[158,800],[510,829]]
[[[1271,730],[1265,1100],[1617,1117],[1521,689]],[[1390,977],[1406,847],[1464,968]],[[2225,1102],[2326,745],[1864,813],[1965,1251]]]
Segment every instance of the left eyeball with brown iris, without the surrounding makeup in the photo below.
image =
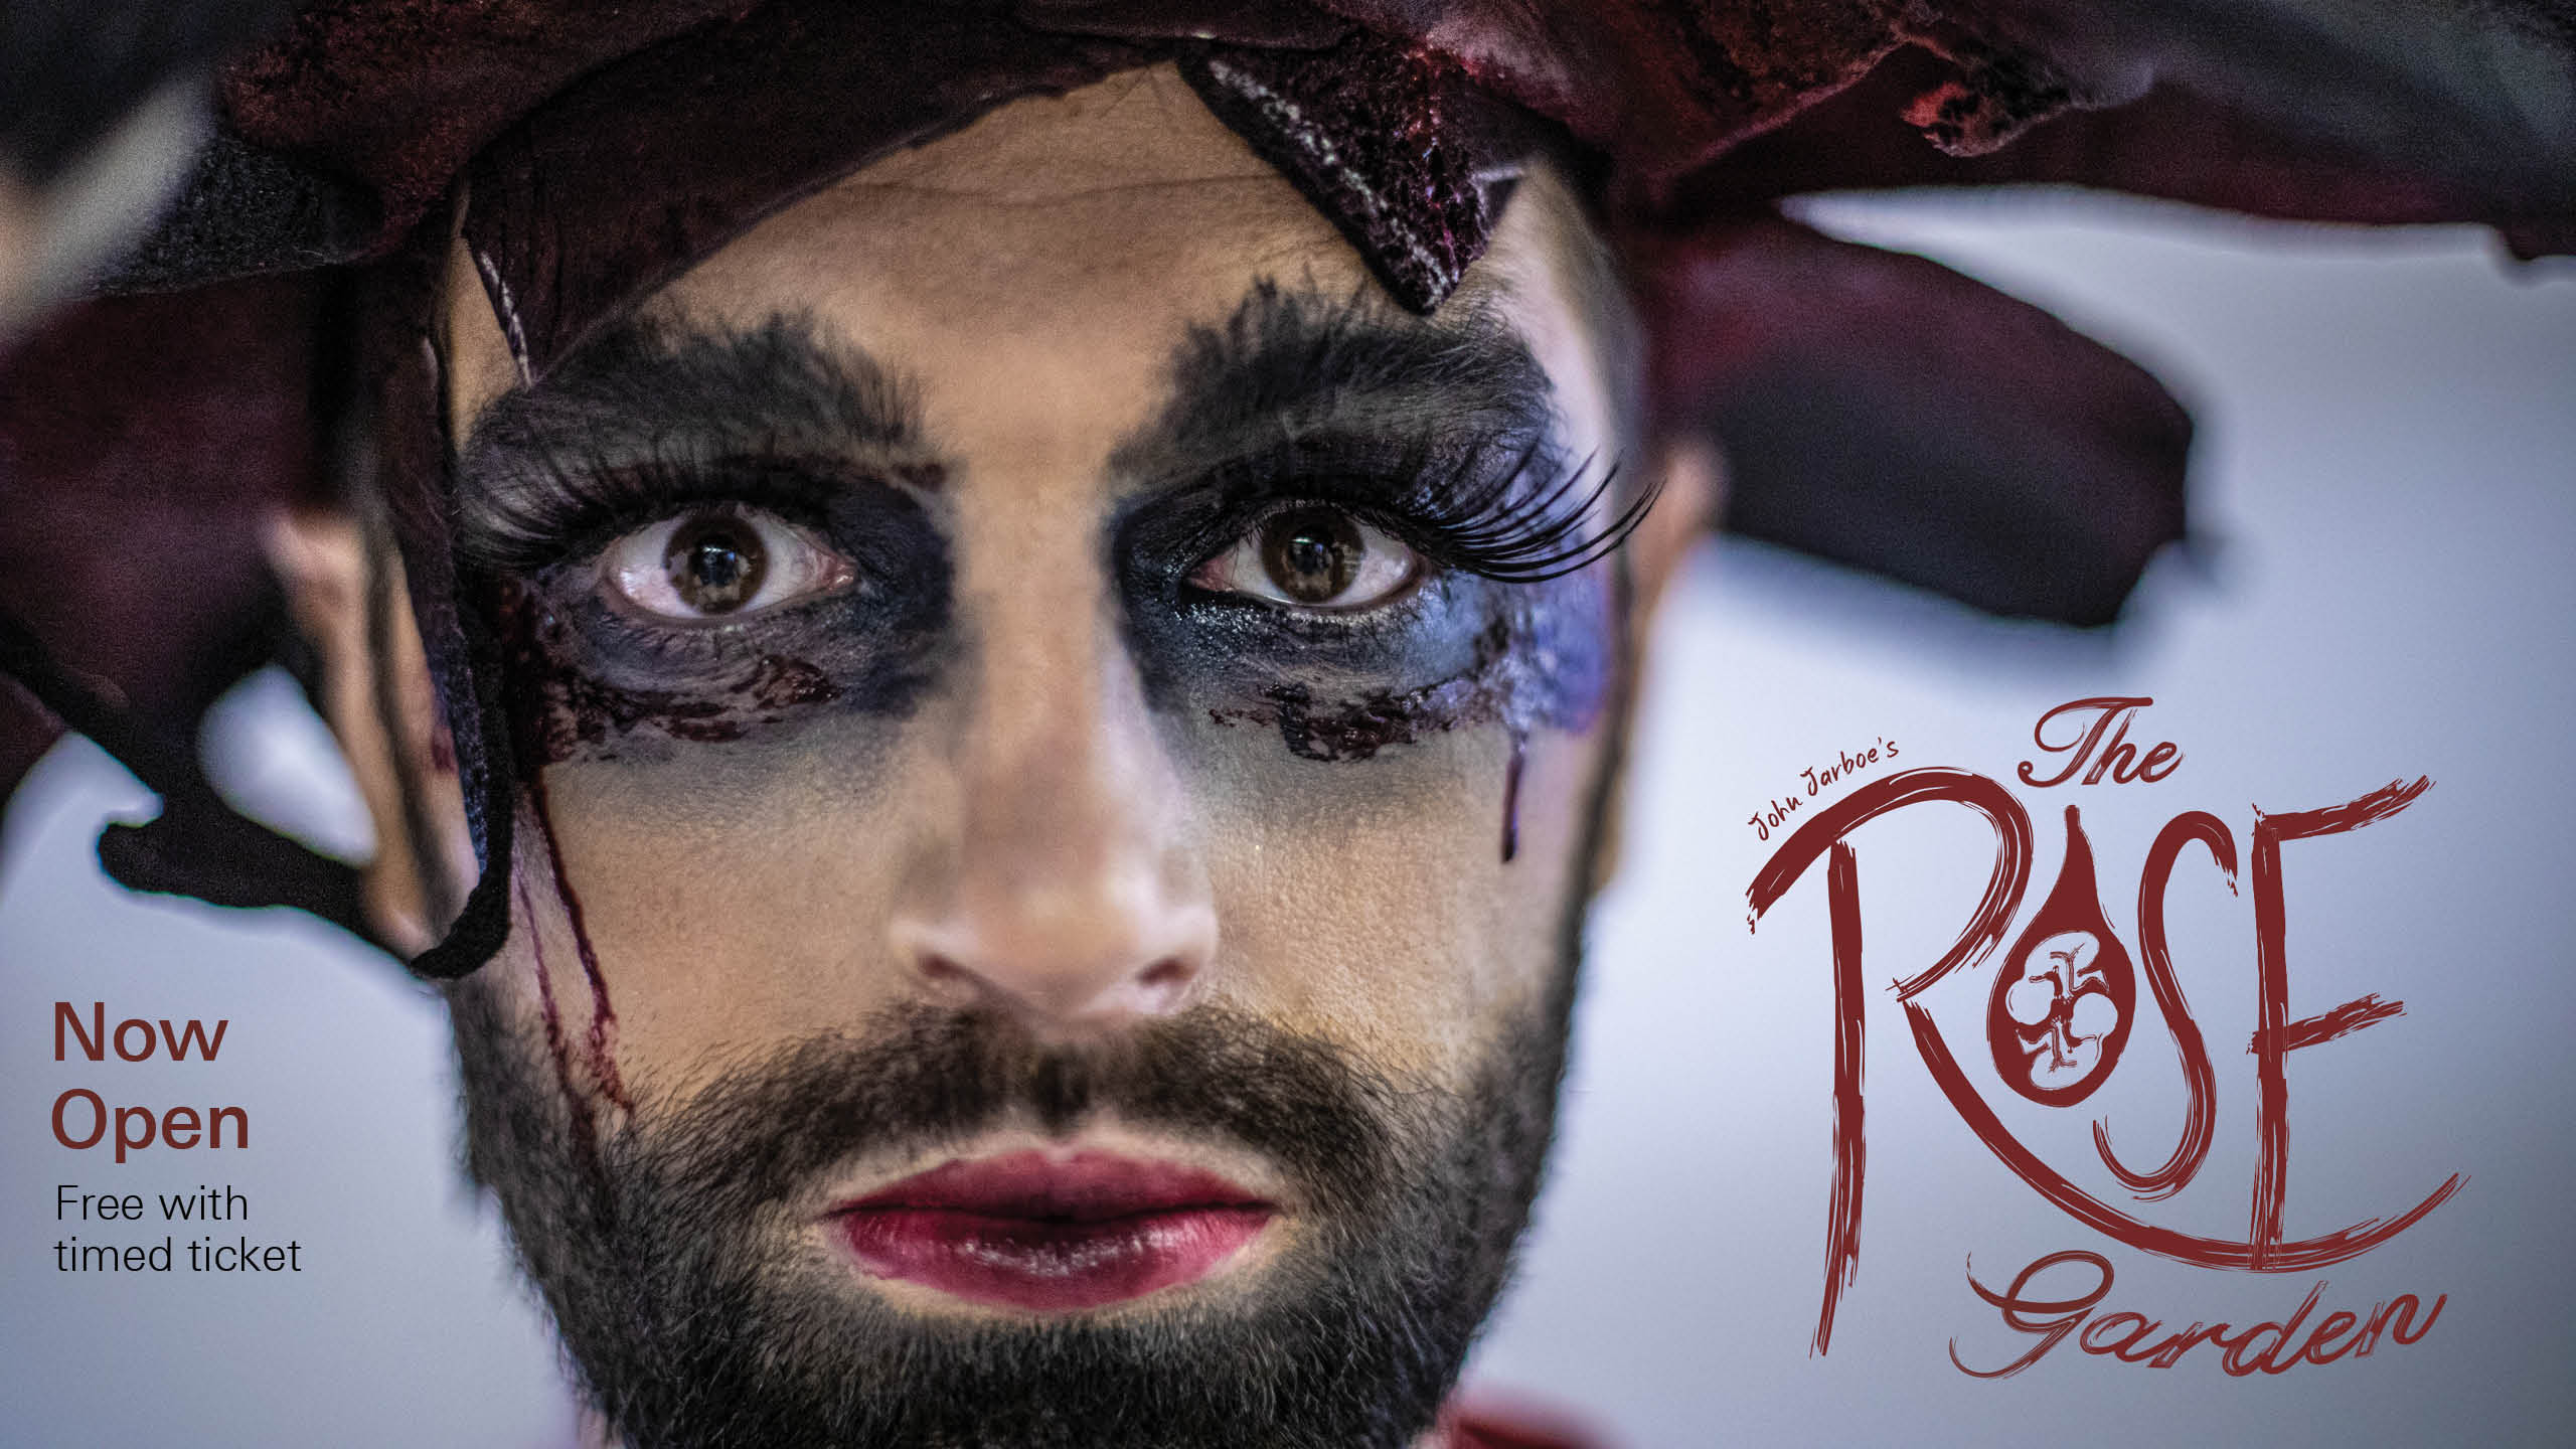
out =
[[600,578],[639,614],[703,624],[848,588],[850,559],[757,508],[701,508],[608,544]]

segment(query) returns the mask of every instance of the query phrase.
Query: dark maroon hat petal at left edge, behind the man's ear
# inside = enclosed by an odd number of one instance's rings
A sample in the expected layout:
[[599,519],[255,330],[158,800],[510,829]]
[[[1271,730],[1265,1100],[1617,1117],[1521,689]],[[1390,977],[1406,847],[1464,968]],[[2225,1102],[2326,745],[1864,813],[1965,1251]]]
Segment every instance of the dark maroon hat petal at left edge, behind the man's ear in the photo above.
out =
[[[317,291],[90,302],[0,358],[0,608],[173,740],[276,647],[263,529],[317,485]],[[23,771],[54,719],[0,694]]]

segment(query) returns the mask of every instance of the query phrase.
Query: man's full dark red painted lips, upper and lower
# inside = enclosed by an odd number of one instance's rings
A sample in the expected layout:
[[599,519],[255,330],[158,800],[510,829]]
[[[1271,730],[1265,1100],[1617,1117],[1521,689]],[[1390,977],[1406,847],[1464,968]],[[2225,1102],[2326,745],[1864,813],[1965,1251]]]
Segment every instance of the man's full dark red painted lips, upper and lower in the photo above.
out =
[[1275,1212],[1198,1168],[1028,1150],[933,1168],[832,1217],[881,1279],[1079,1312],[1208,1276]]

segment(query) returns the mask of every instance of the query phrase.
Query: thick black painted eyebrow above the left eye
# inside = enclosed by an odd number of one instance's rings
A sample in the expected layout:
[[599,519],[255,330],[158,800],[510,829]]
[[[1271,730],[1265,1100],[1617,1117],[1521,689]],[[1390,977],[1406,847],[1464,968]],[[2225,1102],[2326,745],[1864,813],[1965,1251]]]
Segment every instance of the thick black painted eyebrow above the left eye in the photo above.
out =
[[456,459],[456,544],[523,567],[587,505],[585,480],[747,459],[935,474],[914,389],[811,317],[724,330],[634,315],[482,413]]

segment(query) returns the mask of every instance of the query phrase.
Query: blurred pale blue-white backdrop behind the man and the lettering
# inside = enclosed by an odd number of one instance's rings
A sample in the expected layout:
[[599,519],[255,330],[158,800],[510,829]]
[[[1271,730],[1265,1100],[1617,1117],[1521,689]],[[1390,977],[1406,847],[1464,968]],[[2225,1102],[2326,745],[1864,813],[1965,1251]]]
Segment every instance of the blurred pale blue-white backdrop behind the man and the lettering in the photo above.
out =
[[[2293,229],[2069,196],[1829,199],[1808,219],[1947,260],[2154,366],[2200,420],[2195,513],[2218,547],[2197,567],[2159,562],[2115,639],[1973,619],[1752,544],[1703,552],[1662,624],[1553,1178],[1471,1379],[1646,1449],[2566,1441],[2576,266],[2512,271],[2455,229]],[[2094,694],[2154,696],[2133,737],[2174,740],[2184,763],[2156,786],[2020,789],[2035,822],[2025,915],[2076,799],[2133,951],[2138,861],[2166,817],[2215,812],[2244,851],[2257,807],[2434,779],[2396,820],[2285,851],[2290,1016],[2365,993],[2406,1003],[2290,1057],[2285,1225],[2388,1217],[2450,1173],[2468,1186],[2362,1258],[2285,1276],[2148,1258],[2063,1217],[1950,1111],[1878,990],[1947,944],[1991,853],[1965,815],[1911,812],[1857,838],[1868,1194],[1857,1276],[1814,1356],[1832,1176],[1824,882],[1814,871],[1747,933],[1744,887],[1777,841],[1744,817],[1878,737],[1901,743],[1893,768],[2009,779],[2032,719]],[[327,737],[281,678],[245,691],[224,740],[229,773],[273,815],[363,841]],[[121,895],[90,841],[144,810],[129,776],[70,743],[0,835],[0,1444],[559,1441],[546,1325],[456,1168],[435,998],[301,918]],[[2172,900],[2218,1129],[2184,1194],[2130,1207],[2241,1235],[2251,895],[2226,895],[2192,853]],[[1989,1085],[1971,1044],[1994,969],[1924,998]],[[222,1016],[232,1034],[211,1065],[54,1062],[57,1000],[106,1000],[111,1021]],[[116,1168],[54,1145],[46,1114],[70,1085],[245,1104],[255,1140]],[[2115,1088],[2066,1116],[2107,1109],[2130,1163],[2161,1160],[2179,1075],[2151,1011]],[[2079,1132],[2030,1140],[2102,1181]],[[296,1238],[304,1274],[54,1271],[52,1245],[80,1232],[54,1222],[54,1183],[201,1181],[245,1191],[242,1230]],[[2151,1369],[2074,1341],[2012,1379],[1960,1374],[1953,1341],[1973,1366],[2035,1343],[1971,1294],[1971,1261],[1999,1289],[2061,1248],[2112,1261],[2102,1312],[2169,1330],[2280,1320],[2316,1281],[2318,1312],[2450,1297],[2419,1343],[2277,1377],[2228,1377],[2218,1348]]]

